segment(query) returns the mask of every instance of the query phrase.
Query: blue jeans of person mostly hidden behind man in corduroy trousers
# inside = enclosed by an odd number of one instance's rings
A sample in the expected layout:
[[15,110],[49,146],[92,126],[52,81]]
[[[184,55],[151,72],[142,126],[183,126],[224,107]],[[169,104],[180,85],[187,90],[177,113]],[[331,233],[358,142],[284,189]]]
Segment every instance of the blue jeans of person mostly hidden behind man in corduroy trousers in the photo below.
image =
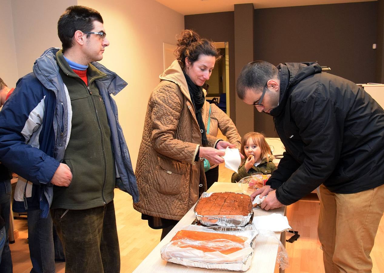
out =
[[55,255],[64,259],[59,238],[53,236],[51,215],[41,218],[41,210],[28,210],[28,245],[32,262],[31,273],[55,272]]

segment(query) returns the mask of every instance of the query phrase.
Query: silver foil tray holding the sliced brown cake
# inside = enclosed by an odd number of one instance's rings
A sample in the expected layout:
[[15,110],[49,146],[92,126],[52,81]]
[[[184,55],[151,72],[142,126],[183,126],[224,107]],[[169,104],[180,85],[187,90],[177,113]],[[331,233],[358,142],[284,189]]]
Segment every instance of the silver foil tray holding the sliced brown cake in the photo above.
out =
[[[212,193],[204,192],[201,198],[206,198]],[[197,201],[197,204],[199,203]],[[196,206],[197,206],[196,204]],[[195,211],[196,221],[204,226],[246,226],[252,224],[253,210],[247,216],[244,215],[199,215]]]

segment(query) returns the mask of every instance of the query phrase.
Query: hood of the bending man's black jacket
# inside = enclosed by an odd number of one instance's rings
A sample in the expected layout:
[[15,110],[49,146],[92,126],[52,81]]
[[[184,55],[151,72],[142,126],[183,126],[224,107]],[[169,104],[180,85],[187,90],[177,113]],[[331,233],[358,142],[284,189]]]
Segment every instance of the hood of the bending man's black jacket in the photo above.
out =
[[284,109],[290,88],[293,85],[301,82],[306,77],[321,72],[321,67],[316,62],[280,63],[276,68],[280,70],[280,97],[279,105],[270,112],[273,117],[280,115]]

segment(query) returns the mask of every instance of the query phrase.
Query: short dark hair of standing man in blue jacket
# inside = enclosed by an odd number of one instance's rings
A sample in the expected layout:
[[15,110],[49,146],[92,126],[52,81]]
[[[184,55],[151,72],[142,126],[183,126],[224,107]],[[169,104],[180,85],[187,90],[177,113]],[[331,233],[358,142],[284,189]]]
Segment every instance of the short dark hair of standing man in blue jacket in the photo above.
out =
[[[73,46],[73,35],[76,30],[89,32],[93,29],[93,21],[103,22],[100,13],[93,8],[84,6],[71,6],[60,16],[57,22],[57,33],[59,35],[63,52]],[[87,38],[90,34],[87,34]]]

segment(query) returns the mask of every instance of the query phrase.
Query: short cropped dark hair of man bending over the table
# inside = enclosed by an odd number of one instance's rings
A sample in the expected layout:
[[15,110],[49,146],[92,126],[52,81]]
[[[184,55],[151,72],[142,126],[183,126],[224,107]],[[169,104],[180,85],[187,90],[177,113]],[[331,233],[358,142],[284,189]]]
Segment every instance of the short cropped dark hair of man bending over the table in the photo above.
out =
[[248,89],[262,92],[268,80],[278,77],[279,70],[271,63],[265,61],[250,62],[243,67],[237,78],[237,95],[243,100]]

